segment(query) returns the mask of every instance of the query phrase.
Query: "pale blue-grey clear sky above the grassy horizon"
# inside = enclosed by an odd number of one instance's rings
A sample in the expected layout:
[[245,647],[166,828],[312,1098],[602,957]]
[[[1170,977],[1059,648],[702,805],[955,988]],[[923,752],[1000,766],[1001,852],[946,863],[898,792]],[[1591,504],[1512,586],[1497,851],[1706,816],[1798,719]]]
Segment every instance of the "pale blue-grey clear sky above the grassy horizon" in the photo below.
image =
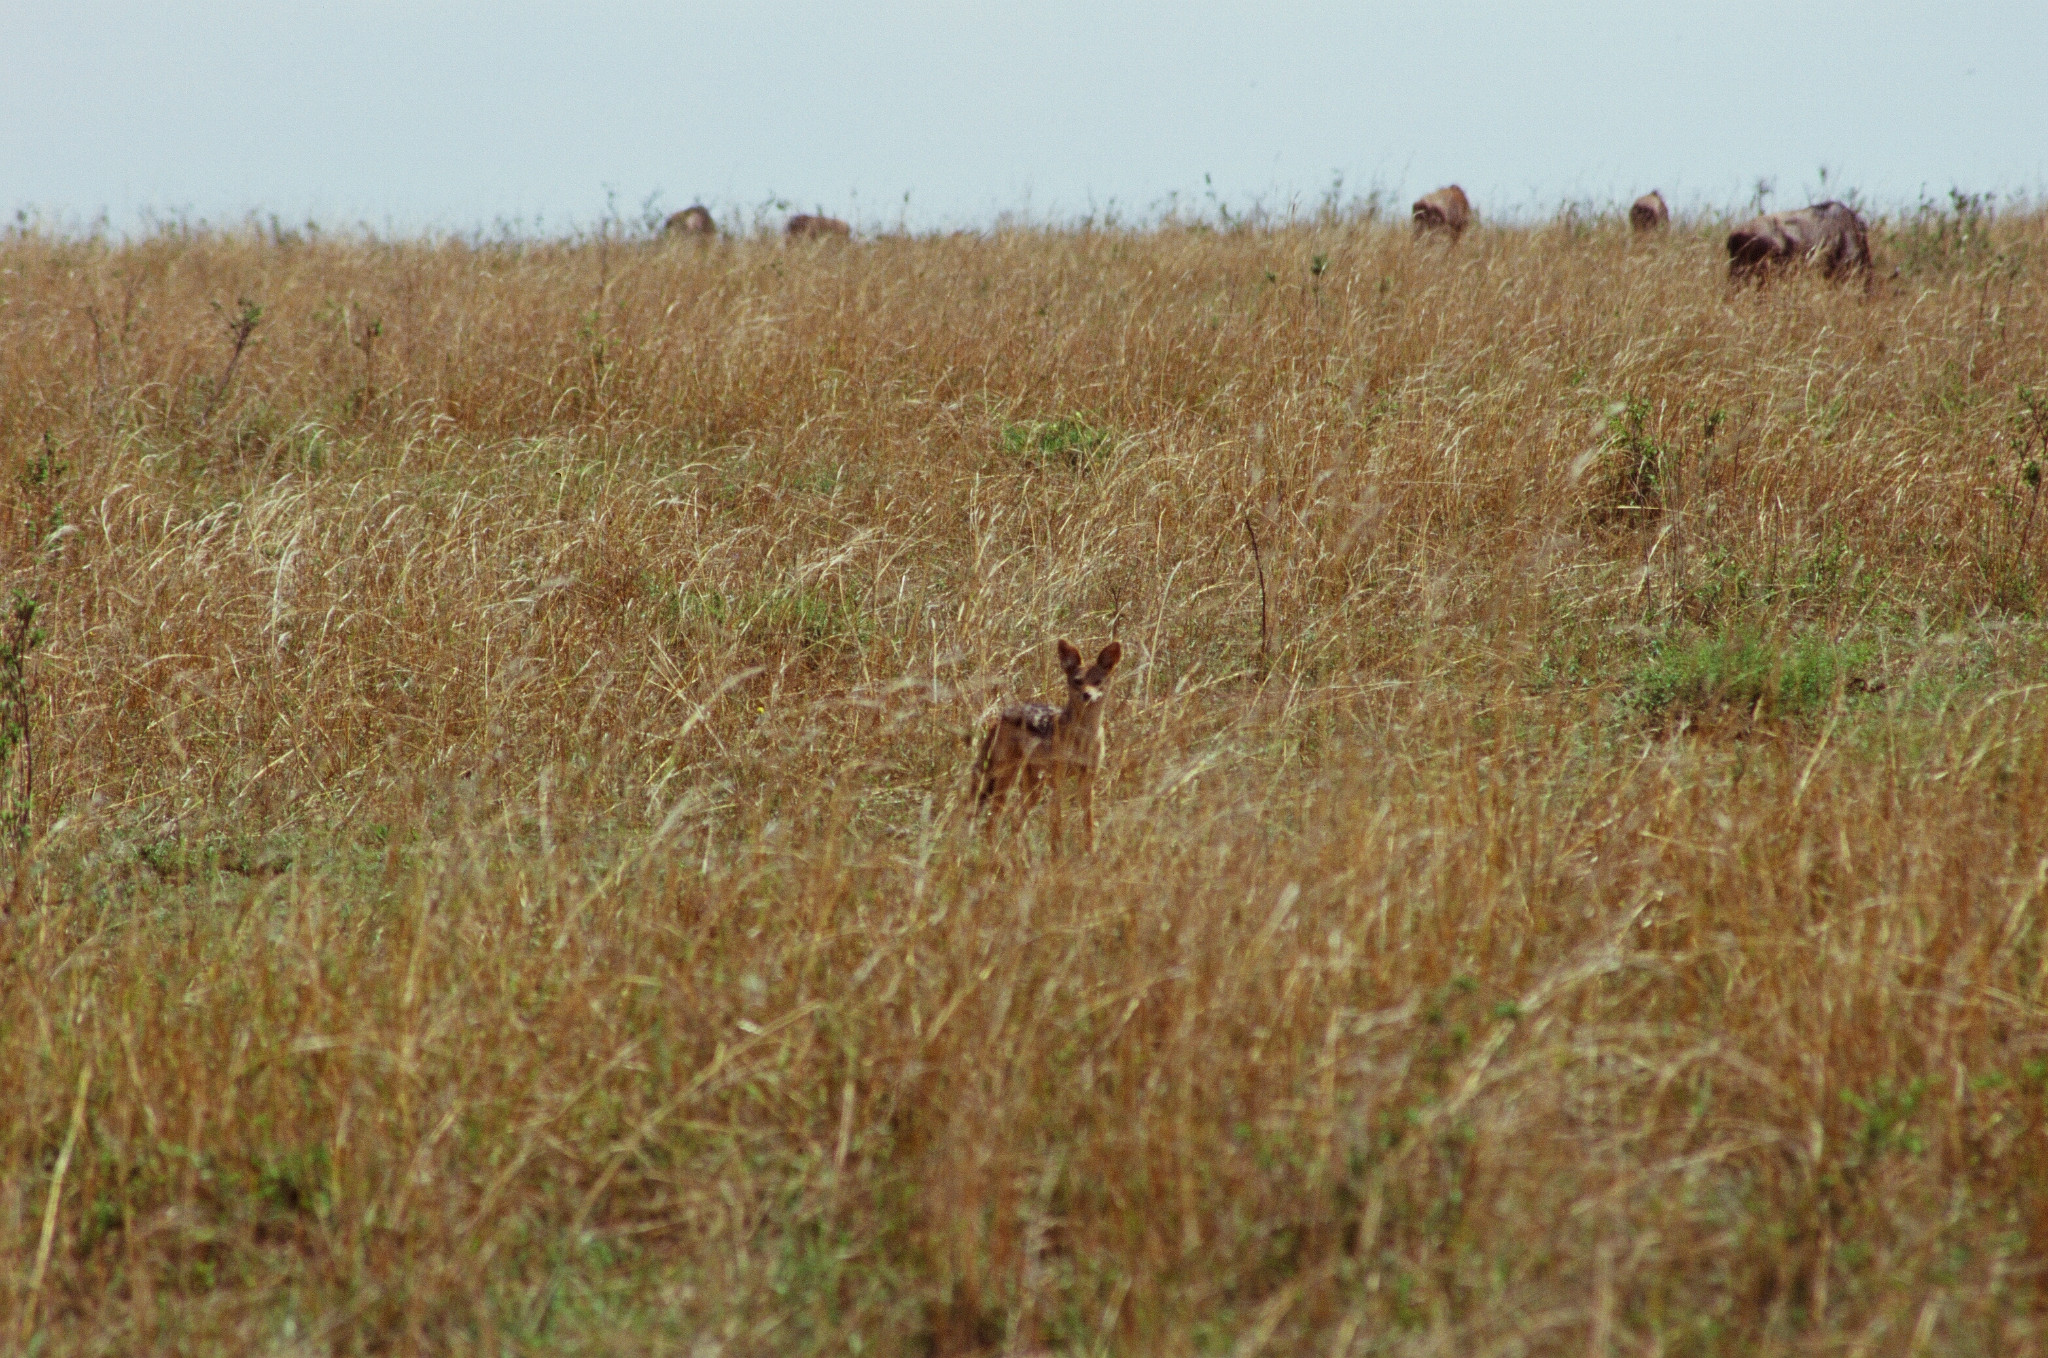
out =
[[[0,0],[0,209],[549,231],[2048,188],[2048,2]],[[909,195],[907,205],[903,195]]]

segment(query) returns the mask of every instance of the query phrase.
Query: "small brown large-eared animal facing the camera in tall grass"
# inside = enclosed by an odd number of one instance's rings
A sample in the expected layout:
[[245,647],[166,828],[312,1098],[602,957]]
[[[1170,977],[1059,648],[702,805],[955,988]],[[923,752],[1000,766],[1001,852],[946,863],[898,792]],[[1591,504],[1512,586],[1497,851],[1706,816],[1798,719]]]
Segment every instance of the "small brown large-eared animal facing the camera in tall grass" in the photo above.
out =
[[[1020,780],[1024,809],[1030,815],[1047,782],[1073,778],[1081,791],[1081,821],[1087,825],[1087,848],[1096,846],[1096,770],[1102,768],[1102,709],[1108,698],[1110,670],[1124,657],[1124,647],[1110,641],[1096,664],[1081,668],[1081,653],[1071,641],[1059,643],[1059,668],[1067,672],[1067,707],[1051,703],[1014,703],[1006,707],[989,733],[981,737],[975,756],[975,805],[987,807],[989,834]],[[1053,850],[1059,850],[1059,805],[1065,799],[1053,789]]]

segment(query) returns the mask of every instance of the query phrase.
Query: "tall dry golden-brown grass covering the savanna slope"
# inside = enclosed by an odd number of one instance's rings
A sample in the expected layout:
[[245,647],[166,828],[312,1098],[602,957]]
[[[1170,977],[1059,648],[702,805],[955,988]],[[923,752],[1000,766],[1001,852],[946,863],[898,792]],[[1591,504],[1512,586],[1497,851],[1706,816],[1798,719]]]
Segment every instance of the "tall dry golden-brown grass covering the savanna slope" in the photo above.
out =
[[2040,1352],[2048,213],[1720,229],[0,238],[0,1352]]

